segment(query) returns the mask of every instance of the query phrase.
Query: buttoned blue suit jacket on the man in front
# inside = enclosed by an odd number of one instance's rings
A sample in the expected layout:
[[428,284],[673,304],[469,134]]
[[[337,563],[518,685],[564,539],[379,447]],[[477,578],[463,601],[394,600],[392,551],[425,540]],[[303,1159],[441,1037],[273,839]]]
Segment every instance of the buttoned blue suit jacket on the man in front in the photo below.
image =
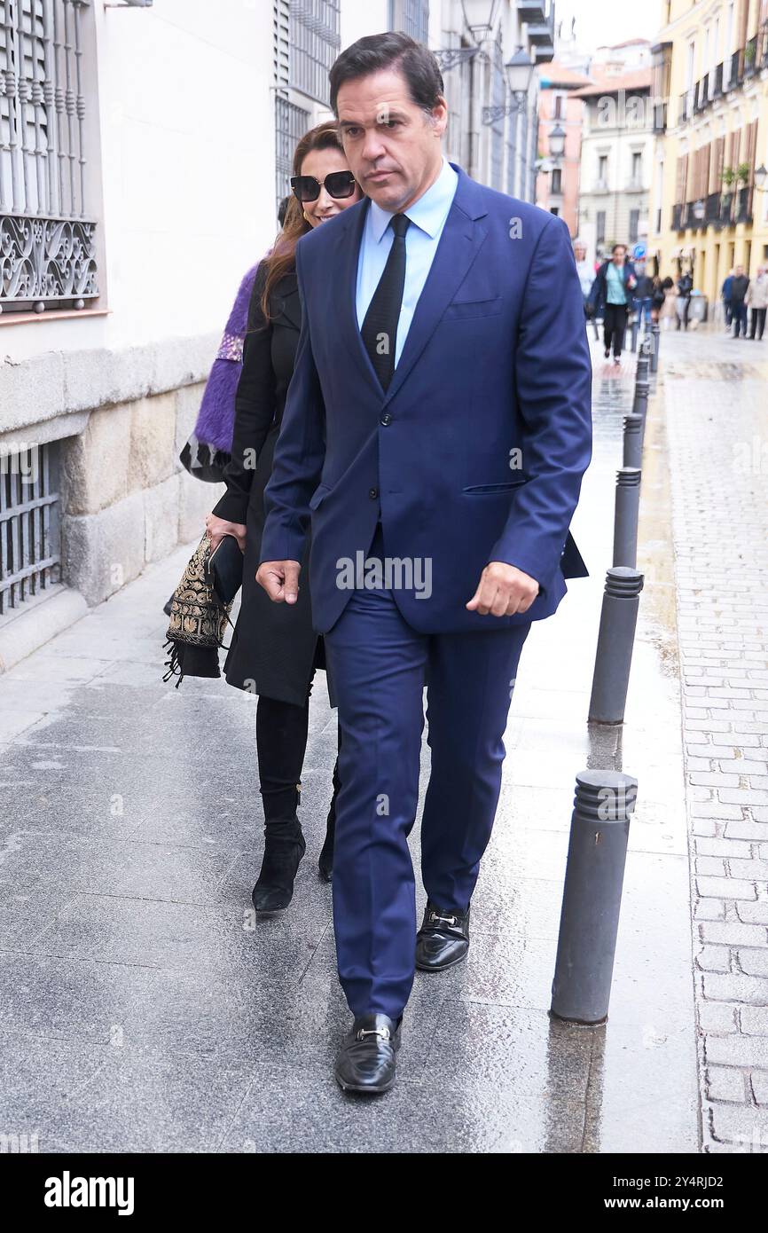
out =
[[[380,508],[387,557],[429,559],[429,598],[393,592],[424,633],[539,620],[566,577],[588,572],[568,531],[592,455],[592,364],[567,226],[451,165],[456,195],[386,393],[355,312],[367,199],[296,249],[302,332],[260,559],[301,560],[312,517],[321,633],[344,610],[340,567],[367,551]],[[536,578],[526,613],[466,610],[489,561]]]

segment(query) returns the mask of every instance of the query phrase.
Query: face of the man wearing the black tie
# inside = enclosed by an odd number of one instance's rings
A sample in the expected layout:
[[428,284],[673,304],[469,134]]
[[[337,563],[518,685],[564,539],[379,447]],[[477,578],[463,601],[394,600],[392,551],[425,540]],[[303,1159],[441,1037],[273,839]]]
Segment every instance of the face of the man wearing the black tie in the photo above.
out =
[[390,213],[407,210],[440,170],[445,100],[428,116],[411,100],[402,73],[382,69],[345,81],[337,109],[344,153],[362,191]]

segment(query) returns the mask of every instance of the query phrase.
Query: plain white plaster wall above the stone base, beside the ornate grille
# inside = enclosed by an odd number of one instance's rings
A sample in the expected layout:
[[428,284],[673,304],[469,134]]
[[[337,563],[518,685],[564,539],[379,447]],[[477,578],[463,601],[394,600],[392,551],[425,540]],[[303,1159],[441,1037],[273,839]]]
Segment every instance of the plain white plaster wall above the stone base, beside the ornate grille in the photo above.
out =
[[0,356],[223,328],[275,229],[270,0],[92,6],[108,317],[0,329]]

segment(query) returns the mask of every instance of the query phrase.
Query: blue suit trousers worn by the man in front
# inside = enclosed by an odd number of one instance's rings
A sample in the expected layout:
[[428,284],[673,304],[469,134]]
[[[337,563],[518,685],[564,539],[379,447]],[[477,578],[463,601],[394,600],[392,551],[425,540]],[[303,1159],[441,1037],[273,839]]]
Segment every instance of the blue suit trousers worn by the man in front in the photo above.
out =
[[[381,528],[370,556],[383,556]],[[480,580],[478,580],[480,581]],[[471,599],[468,594],[467,600]],[[408,836],[419,797],[427,683],[429,787],[422,878],[466,911],[498,804],[503,734],[531,623],[424,634],[397,593],[356,589],[324,635],[341,731],[333,864],[339,979],[355,1016],[397,1018],[414,978],[415,888]]]

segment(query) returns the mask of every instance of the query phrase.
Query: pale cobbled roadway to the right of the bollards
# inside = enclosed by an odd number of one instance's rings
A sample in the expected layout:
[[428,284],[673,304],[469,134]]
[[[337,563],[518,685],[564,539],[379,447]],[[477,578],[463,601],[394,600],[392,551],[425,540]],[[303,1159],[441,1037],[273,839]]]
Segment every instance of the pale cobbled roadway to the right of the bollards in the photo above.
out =
[[768,1153],[767,343],[662,364],[705,1152]]

